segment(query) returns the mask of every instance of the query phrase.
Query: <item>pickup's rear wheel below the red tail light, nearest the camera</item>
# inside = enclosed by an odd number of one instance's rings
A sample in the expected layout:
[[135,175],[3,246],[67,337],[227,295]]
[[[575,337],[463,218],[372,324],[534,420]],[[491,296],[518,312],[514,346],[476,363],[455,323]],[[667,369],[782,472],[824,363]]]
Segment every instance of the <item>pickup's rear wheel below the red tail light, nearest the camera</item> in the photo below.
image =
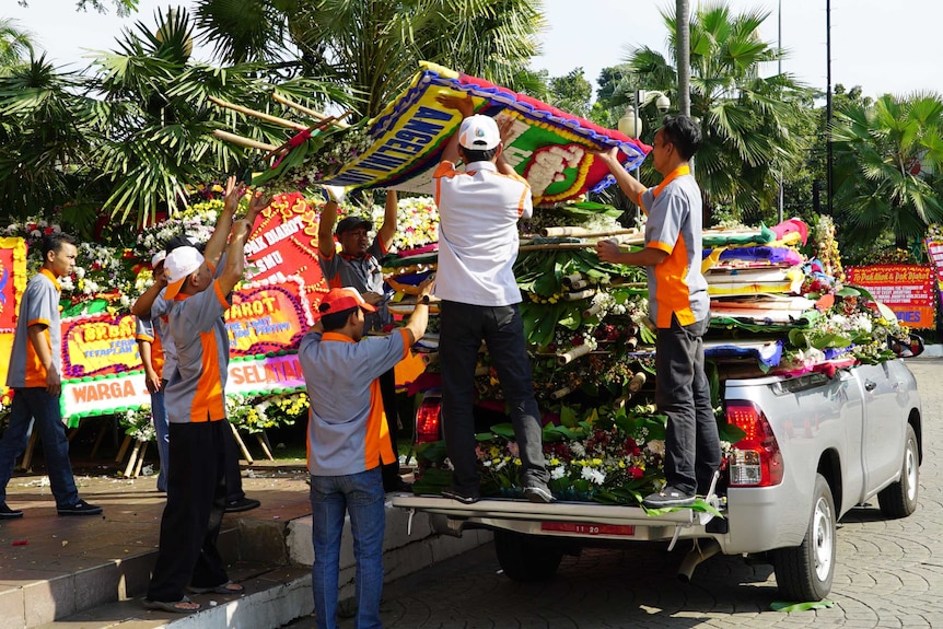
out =
[[773,551],[776,583],[787,601],[822,601],[835,576],[835,500],[820,474],[815,477],[812,517],[802,544]]

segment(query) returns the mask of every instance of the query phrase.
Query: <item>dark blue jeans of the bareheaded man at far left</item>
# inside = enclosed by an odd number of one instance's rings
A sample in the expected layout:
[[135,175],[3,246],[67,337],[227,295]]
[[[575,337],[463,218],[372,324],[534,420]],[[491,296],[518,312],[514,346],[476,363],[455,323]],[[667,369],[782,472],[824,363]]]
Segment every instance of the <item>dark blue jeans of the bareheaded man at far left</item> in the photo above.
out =
[[56,498],[56,506],[65,509],[79,502],[79,490],[69,462],[69,441],[66,424],[59,409],[59,398],[53,397],[39,386],[18,388],[13,393],[10,423],[0,439],[0,502],[7,501],[7,484],[13,476],[16,458],[26,450],[30,421],[35,419],[34,430],[43,440],[43,457],[49,486]]

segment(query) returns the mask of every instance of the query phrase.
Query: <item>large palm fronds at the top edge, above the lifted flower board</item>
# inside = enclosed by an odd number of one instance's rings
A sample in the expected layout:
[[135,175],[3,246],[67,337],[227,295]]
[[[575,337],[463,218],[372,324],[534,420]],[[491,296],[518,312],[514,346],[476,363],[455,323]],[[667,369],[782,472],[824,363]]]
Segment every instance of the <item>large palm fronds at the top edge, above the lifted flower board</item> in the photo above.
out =
[[[196,12],[228,61],[251,50],[246,58],[292,66],[276,44],[287,32],[301,53],[295,68],[342,85],[365,117],[406,85],[420,59],[521,88],[544,26],[539,0],[197,0]],[[245,23],[243,14],[258,19]]]

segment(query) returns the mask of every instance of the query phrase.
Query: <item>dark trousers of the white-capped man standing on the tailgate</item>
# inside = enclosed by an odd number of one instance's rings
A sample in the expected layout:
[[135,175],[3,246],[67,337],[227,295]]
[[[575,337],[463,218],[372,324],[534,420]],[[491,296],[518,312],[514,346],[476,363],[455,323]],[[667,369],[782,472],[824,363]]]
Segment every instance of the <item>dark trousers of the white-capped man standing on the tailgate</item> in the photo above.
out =
[[443,301],[440,306],[439,362],[442,371],[442,421],[452,461],[452,486],[465,494],[479,490],[475,455],[475,365],[484,340],[498,372],[520,449],[521,485],[549,479],[542,446],[540,411],[534,398],[531,359],[516,304],[477,306]]

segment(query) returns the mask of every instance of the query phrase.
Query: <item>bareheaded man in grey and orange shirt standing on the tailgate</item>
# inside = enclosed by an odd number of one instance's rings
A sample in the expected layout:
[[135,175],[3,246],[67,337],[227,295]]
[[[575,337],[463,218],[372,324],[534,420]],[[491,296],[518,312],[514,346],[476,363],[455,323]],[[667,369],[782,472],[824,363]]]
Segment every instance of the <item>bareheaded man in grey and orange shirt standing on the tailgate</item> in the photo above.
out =
[[701,142],[689,116],[668,116],[655,133],[652,156],[664,179],[645,188],[618,162],[618,150],[596,154],[630,200],[647,213],[645,246],[620,252],[615,241],[596,243],[599,259],[643,266],[649,314],[657,327],[655,403],[668,418],[664,489],[645,497],[650,509],[685,506],[707,494],[720,467],[720,439],[705,375],[703,334],[710,298],[701,275],[701,194],[690,159]]

